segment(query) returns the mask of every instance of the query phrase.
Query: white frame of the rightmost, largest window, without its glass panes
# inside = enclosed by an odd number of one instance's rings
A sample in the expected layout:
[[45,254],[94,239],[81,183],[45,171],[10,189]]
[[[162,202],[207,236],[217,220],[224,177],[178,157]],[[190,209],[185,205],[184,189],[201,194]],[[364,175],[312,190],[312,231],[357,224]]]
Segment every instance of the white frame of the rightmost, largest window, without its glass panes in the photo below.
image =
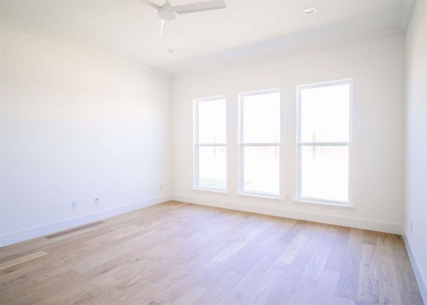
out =
[[[320,88],[326,86],[342,85],[349,84],[349,141],[348,142],[301,142],[301,91],[302,89],[310,88]],[[297,154],[297,164],[296,164],[296,201],[301,203],[309,204],[320,204],[326,206],[336,206],[336,207],[350,207],[353,205],[351,203],[351,151],[352,151],[352,109],[353,109],[353,80],[352,79],[343,79],[336,81],[328,81],[307,85],[297,86],[297,143],[296,143],[296,154]],[[348,146],[348,202],[347,201],[334,201],[327,200],[322,198],[311,198],[311,197],[301,197],[301,147],[302,146]]]

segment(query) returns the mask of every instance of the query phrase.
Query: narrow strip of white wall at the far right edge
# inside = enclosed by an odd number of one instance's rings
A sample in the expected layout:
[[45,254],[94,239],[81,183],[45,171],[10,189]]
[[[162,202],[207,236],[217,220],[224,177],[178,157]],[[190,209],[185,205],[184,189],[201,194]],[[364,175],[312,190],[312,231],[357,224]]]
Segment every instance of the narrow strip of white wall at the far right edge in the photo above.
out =
[[[406,33],[405,235],[427,302],[427,2],[417,1]],[[412,224],[412,230],[411,230]]]

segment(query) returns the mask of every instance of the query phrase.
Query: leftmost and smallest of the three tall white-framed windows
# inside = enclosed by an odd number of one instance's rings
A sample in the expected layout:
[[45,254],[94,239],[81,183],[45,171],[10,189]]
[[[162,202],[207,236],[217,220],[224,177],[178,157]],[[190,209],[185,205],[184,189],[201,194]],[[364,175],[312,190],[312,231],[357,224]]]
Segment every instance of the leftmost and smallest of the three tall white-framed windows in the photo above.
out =
[[194,187],[227,188],[226,97],[194,101]]

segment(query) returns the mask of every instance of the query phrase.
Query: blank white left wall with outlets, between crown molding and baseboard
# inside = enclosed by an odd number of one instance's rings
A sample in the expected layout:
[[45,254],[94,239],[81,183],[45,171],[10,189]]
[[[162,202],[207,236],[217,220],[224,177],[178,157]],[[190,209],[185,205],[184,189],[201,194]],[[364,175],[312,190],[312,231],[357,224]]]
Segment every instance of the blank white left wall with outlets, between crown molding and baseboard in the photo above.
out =
[[1,243],[164,201],[170,79],[0,29]]

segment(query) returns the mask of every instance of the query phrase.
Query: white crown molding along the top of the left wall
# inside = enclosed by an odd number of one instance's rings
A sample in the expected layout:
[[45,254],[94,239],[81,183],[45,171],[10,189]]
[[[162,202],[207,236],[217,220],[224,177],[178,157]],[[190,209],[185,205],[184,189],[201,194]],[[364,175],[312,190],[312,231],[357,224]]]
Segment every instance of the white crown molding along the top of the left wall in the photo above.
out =
[[36,36],[38,38],[62,45],[62,46],[66,46],[69,48],[73,48],[75,50],[79,50],[79,51],[83,51],[86,53],[90,53],[93,55],[97,55],[97,56],[102,56],[102,57],[108,57],[110,59],[115,60],[116,62],[125,64],[125,65],[129,65],[132,67],[136,67],[138,69],[143,70],[146,73],[150,73],[150,74],[154,74],[156,76],[162,76],[162,77],[166,77],[166,78],[170,78],[171,75],[168,73],[165,73],[163,71],[159,71],[156,69],[152,69],[152,68],[148,68],[145,66],[142,66],[138,63],[133,62],[130,59],[127,59],[125,57],[121,57],[118,55],[115,55],[113,53],[110,53],[108,51],[104,51],[102,49],[90,46],[88,44],[67,38],[65,36],[62,35],[58,35],[49,31],[45,31],[42,28],[6,17],[4,15],[0,15],[0,26],[4,26],[4,27],[8,27],[11,28],[15,31],[19,31],[25,34],[29,34],[32,36]]

